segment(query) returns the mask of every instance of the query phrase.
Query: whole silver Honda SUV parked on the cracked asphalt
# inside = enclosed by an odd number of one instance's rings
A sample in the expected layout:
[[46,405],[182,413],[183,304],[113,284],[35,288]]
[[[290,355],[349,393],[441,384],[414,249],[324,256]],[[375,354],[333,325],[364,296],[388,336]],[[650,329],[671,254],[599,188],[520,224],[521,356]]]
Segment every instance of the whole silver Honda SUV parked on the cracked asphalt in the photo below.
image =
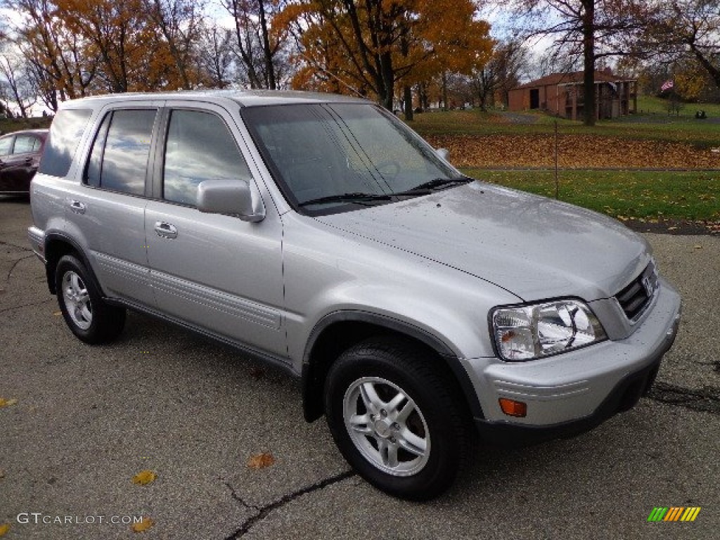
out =
[[130,308],[282,366],[305,418],[402,498],[449,487],[478,433],[520,444],[631,408],[680,319],[623,225],[469,179],[341,96],[66,102],[32,215],[78,338],[112,340]]

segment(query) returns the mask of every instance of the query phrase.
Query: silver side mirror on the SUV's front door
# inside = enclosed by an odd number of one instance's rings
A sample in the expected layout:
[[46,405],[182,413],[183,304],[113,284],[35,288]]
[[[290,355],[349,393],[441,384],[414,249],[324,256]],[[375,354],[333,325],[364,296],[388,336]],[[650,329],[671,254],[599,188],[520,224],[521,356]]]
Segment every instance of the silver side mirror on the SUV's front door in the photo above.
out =
[[243,221],[265,218],[265,207],[253,197],[247,179],[205,180],[197,186],[197,210],[207,214],[231,214]]

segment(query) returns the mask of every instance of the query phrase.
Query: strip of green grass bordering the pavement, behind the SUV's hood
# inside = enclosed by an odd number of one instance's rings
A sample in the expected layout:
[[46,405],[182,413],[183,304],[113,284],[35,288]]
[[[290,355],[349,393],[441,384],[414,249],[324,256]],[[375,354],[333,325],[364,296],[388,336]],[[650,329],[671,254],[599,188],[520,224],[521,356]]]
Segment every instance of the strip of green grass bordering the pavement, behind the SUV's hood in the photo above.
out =
[[[555,196],[553,171],[463,172],[494,184]],[[559,199],[621,220],[720,221],[720,171],[560,171]]]

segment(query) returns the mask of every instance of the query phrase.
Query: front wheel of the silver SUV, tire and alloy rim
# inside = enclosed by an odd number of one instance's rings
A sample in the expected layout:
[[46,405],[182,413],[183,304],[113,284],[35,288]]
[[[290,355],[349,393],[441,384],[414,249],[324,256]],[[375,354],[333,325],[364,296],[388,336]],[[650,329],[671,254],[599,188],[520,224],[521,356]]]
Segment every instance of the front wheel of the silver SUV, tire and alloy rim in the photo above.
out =
[[398,498],[429,500],[453,483],[472,438],[448,376],[414,343],[372,338],[325,380],[325,416],[349,464]]

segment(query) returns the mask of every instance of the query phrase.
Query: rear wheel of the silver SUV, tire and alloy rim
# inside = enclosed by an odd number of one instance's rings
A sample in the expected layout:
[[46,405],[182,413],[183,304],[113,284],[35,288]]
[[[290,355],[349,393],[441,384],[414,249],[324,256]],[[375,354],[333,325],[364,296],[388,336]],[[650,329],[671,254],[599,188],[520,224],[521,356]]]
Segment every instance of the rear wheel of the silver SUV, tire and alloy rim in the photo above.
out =
[[125,310],[108,305],[85,265],[72,255],[55,267],[55,290],[63,318],[73,334],[85,343],[108,343],[125,326]]

